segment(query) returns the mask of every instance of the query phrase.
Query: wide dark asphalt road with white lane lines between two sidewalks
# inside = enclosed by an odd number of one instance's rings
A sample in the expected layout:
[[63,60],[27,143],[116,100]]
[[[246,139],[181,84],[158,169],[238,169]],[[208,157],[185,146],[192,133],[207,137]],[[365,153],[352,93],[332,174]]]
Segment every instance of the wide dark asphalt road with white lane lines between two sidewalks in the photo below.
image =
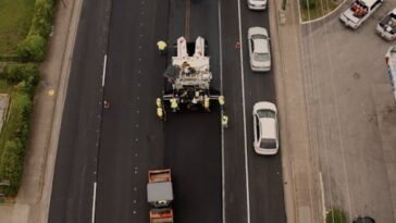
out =
[[[286,222],[281,154],[257,156],[251,145],[252,104],[275,101],[274,74],[249,67],[255,25],[269,27],[268,12],[236,0],[85,0],[49,222],[149,222],[147,171],[162,168],[173,173],[175,222]],[[156,42],[180,36],[209,42],[230,116],[224,132],[219,108],[156,116],[170,61]]]

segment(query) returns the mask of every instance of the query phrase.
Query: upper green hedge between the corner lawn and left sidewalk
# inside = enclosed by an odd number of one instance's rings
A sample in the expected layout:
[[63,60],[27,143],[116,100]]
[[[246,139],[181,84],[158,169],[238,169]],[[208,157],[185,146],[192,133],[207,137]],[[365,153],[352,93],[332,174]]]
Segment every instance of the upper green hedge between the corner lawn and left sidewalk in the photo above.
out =
[[17,45],[22,61],[40,62],[46,54],[48,37],[52,29],[54,0],[36,0],[35,15],[28,35]]

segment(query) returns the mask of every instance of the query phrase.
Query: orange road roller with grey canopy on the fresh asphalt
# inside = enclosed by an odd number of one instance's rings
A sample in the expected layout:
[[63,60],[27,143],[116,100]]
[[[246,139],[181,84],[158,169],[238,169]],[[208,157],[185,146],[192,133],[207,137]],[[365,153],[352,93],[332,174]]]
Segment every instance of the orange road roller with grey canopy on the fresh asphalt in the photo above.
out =
[[173,187],[171,170],[148,172],[147,201],[151,206],[150,223],[173,223]]

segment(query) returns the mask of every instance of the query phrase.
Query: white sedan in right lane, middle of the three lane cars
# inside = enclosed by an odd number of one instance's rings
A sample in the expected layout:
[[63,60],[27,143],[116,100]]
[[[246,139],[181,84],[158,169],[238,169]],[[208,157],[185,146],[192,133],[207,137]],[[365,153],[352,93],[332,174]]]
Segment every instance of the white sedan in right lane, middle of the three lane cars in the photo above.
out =
[[250,27],[248,30],[250,67],[256,72],[271,70],[270,37],[263,27]]

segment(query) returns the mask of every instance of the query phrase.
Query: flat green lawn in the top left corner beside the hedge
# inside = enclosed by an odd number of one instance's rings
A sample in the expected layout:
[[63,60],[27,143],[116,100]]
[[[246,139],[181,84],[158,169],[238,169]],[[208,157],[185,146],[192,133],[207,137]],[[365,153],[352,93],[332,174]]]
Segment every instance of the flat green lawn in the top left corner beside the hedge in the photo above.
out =
[[30,27],[36,0],[0,0],[0,54],[15,53]]

